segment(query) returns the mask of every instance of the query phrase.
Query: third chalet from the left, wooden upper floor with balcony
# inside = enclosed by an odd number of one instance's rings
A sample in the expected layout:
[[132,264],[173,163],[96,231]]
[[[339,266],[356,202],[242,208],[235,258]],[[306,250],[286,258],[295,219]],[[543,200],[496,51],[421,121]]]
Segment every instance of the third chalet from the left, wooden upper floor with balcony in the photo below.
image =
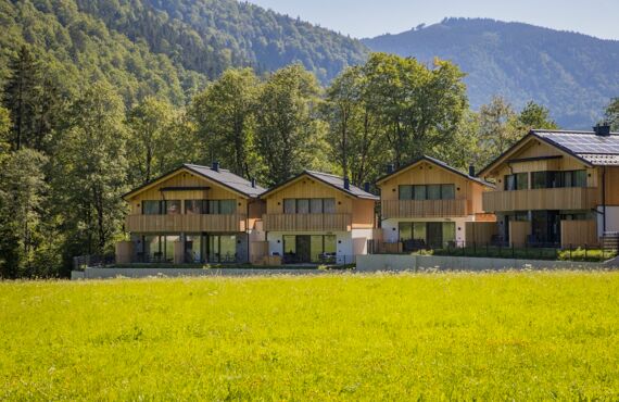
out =
[[[472,171],[472,167],[471,169]],[[494,221],[481,198],[493,185],[430,156],[419,158],[376,183],[380,189],[382,240],[397,250],[462,246],[472,223]]]

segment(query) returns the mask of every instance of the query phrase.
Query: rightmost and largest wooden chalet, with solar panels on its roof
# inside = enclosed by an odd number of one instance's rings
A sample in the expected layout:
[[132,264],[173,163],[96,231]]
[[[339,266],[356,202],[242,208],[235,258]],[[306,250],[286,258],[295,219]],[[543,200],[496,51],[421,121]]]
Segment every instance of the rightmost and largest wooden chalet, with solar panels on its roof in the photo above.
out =
[[619,231],[619,134],[532,130],[480,172],[483,210],[506,243],[598,244]]

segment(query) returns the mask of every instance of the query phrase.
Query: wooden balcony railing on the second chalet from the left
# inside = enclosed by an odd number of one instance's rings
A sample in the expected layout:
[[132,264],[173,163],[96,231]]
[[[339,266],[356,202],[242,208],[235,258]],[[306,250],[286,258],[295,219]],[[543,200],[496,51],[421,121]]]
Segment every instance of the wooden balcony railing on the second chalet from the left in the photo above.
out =
[[350,231],[351,214],[265,214],[267,231]]

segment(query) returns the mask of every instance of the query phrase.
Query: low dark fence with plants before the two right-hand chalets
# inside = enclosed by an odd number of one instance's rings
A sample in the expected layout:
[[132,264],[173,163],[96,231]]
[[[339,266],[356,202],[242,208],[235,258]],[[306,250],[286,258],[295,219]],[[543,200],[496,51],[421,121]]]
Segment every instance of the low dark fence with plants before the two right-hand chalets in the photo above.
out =
[[[445,256],[477,256],[522,260],[563,260],[563,261],[606,261],[617,256],[617,249],[601,248],[599,244],[577,247],[556,243],[502,243],[502,242],[464,242],[449,241],[439,247],[426,247],[422,242],[400,241],[374,244],[368,248],[375,254],[414,253]],[[396,250],[396,251],[395,251]]]

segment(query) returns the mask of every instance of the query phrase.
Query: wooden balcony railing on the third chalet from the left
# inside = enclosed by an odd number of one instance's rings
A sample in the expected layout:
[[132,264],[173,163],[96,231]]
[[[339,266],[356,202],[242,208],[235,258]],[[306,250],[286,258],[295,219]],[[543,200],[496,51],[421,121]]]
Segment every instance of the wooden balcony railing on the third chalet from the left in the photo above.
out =
[[466,216],[466,199],[456,200],[384,200],[382,218]]

